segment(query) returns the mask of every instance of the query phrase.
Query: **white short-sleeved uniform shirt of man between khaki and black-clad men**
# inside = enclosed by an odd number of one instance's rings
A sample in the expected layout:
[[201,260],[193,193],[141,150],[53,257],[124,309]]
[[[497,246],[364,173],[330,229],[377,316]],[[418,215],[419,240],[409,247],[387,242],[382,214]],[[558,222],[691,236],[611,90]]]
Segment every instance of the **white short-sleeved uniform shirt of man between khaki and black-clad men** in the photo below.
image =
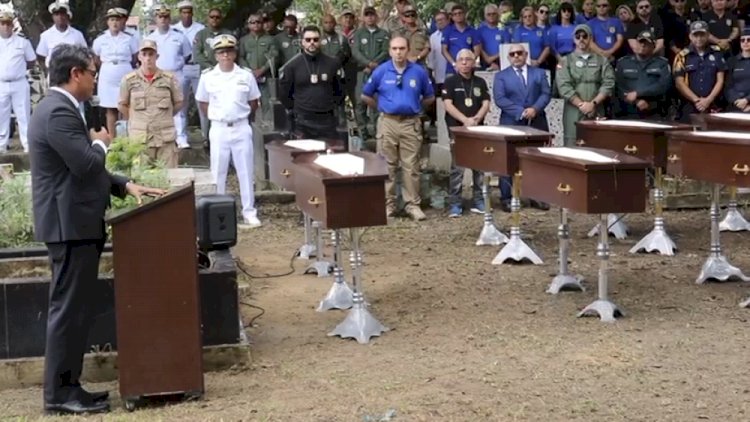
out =
[[208,103],[208,119],[225,123],[247,119],[250,102],[259,98],[255,77],[237,65],[231,72],[222,72],[218,65],[204,71],[195,93],[197,101]]

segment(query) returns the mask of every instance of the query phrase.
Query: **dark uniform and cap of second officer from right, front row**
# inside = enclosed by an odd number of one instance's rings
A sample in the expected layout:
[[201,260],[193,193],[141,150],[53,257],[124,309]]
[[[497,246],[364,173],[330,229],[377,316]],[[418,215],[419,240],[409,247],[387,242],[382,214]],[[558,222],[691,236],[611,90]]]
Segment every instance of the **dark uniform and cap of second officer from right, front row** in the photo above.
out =
[[[707,32],[708,25],[703,21],[693,22],[690,25],[691,33]],[[724,54],[717,46],[706,46],[703,53],[698,53],[693,45],[683,49],[675,57],[673,73],[675,79],[685,78],[687,87],[696,96],[705,98],[711,94],[717,82],[719,72],[726,71],[726,62]],[[683,98],[682,107],[680,108],[681,120],[690,121],[690,114],[698,113],[695,104],[690,98]],[[705,112],[717,110],[719,108],[716,102],[709,106]]]

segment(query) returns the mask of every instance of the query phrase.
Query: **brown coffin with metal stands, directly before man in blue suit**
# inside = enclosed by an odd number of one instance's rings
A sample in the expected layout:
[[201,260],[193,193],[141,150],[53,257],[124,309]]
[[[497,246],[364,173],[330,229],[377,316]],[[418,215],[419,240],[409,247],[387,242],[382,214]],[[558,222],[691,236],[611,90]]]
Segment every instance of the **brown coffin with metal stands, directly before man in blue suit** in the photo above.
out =
[[[456,166],[485,172],[482,193],[484,194],[484,225],[477,240],[477,246],[506,245],[492,260],[493,264],[502,264],[512,260],[522,262],[528,260],[533,264],[541,264],[542,260],[521,239],[521,174],[518,171],[518,156],[516,148],[541,147],[550,145],[554,135],[527,126],[499,126],[498,132],[479,131],[478,127],[452,127],[451,133],[455,139],[453,154]],[[511,129],[519,134],[506,134],[503,128]],[[492,219],[492,207],[489,195],[489,174],[512,176],[513,198],[511,211],[513,226],[510,238],[501,233]]]

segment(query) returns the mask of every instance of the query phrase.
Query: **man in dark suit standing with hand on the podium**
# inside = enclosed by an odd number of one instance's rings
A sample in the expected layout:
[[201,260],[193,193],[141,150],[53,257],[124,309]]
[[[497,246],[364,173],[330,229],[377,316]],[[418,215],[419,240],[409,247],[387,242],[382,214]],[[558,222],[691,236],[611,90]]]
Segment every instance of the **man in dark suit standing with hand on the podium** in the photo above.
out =
[[96,305],[104,211],[110,194],[161,195],[104,168],[110,136],[86,129],[78,104],[94,92],[96,65],[86,47],[64,44],[50,57],[52,88],[29,127],[34,235],[49,250],[50,283],[44,368],[47,413],[109,410],[107,392],[80,385],[83,355]]

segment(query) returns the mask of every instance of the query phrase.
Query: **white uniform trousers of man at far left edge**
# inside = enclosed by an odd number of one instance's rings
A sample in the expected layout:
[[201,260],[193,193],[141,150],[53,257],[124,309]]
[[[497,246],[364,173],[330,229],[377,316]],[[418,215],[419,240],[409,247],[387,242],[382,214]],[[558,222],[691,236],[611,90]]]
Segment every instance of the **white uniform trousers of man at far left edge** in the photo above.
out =
[[7,150],[10,140],[10,111],[16,114],[18,136],[24,151],[29,150],[26,137],[31,116],[31,88],[26,76],[11,81],[0,81],[0,152]]

